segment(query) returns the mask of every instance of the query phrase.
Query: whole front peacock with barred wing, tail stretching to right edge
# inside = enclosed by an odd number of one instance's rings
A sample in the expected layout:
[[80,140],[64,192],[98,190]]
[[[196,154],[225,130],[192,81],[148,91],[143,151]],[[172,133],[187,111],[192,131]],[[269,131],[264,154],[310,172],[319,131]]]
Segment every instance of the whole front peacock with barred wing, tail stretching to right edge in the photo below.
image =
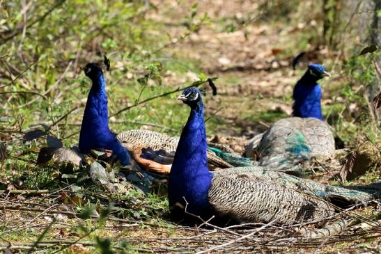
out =
[[332,205],[320,198],[348,203],[380,198],[381,183],[346,188],[326,186],[259,166],[211,173],[201,93],[188,88],[178,100],[191,111],[169,175],[169,206],[176,219],[216,216],[237,222],[311,222],[334,214]]

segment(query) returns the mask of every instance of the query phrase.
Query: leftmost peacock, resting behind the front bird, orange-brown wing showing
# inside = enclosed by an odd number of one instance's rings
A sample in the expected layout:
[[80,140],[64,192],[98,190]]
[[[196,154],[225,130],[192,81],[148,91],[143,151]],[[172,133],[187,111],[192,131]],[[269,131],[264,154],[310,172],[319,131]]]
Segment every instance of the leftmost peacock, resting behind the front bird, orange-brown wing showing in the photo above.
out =
[[[144,129],[113,134],[109,129],[106,84],[102,68],[98,63],[88,63],[84,72],[93,81],[93,86],[88,94],[81,125],[79,136],[81,152],[87,153],[92,149],[104,148],[112,150],[123,165],[130,164],[130,156],[132,156],[146,170],[169,173],[178,138]],[[217,148],[208,151],[208,163],[219,168],[251,165],[249,159]]]

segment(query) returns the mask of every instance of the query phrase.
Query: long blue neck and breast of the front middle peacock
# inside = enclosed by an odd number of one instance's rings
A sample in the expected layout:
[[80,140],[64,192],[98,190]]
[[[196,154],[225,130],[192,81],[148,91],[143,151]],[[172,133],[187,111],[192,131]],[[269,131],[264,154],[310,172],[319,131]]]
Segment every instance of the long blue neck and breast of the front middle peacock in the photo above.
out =
[[176,203],[185,206],[186,200],[188,212],[202,214],[208,209],[212,174],[208,170],[206,149],[203,104],[199,102],[191,108],[173,159],[169,175],[170,207]]

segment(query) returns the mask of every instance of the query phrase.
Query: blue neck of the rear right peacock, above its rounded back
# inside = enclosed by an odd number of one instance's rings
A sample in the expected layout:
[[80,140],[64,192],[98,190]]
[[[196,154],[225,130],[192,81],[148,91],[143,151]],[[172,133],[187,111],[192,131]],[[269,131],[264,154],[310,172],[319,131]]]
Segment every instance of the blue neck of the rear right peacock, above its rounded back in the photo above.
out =
[[309,70],[297,81],[293,91],[293,116],[301,118],[318,118],[322,120],[321,87],[318,77],[310,74]]

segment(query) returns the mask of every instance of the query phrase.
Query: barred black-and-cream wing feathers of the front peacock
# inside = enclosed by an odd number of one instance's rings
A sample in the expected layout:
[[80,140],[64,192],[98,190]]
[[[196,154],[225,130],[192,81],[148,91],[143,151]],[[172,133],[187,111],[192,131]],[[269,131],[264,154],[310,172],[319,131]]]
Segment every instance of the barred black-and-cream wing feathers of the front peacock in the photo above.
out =
[[208,196],[219,214],[240,222],[274,220],[279,224],[291,224],[321,220],[334,214],[334,209],[318,198],[244,175],[213,177]]

